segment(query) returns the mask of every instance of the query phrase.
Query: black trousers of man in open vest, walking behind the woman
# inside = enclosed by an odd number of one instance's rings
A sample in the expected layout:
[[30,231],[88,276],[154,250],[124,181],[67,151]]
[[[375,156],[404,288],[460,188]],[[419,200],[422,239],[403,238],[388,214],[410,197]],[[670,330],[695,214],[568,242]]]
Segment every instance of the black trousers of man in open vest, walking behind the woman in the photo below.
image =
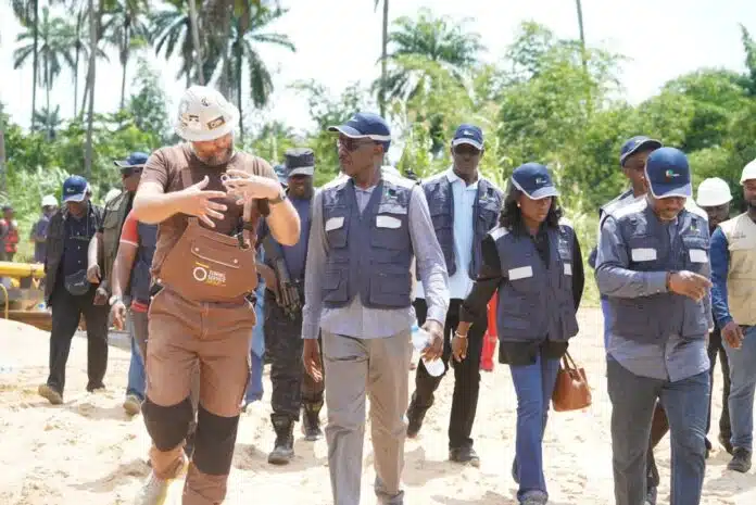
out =
[[[457,363],[452,357],[452,337],[459,324],[459,305],[462,300],[453,299],[449,303],[446,323],[444,326],[443,362],[446,371],[451,359],[454,368],[454,393],[452,396],[452,412],[449,419],[449,449],[472,446],[472,424],[478,409],[478,392],[480,390],[480,353],[483,349],[483,336],[488,328],[488,316],[484,314],[479,320],[472,321],[467,338],[467,357]],[[417,323],[423,325],[428,314],[428,305],[424,299],[416,299],[413,303]],[[423,361],[417,365],[415,374],[415,392],[413,402],[420,411],[430,408],[433,404],[433,393],[446,375],[433,377],[426,370]]]

